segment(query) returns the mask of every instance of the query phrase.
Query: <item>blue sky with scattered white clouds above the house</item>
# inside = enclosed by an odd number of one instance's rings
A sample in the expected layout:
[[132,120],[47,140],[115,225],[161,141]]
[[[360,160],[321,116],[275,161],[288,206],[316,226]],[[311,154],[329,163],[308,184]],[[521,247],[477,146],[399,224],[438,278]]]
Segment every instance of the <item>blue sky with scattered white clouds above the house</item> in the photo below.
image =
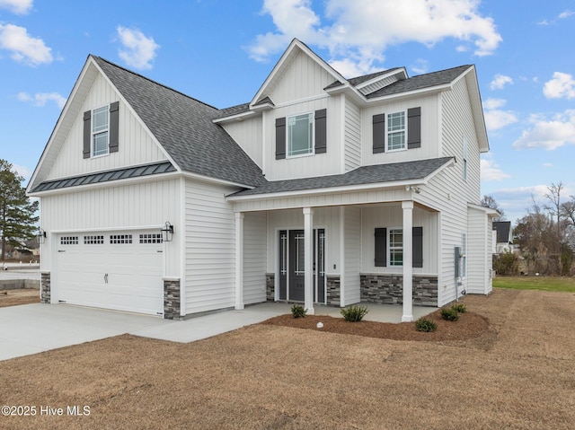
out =
[[0,0],[0,158],[30,178],[88,54],[217,108],[250,101],[289,41],[346,77],[474,64],[507,219],[575,194],[575,1]]

